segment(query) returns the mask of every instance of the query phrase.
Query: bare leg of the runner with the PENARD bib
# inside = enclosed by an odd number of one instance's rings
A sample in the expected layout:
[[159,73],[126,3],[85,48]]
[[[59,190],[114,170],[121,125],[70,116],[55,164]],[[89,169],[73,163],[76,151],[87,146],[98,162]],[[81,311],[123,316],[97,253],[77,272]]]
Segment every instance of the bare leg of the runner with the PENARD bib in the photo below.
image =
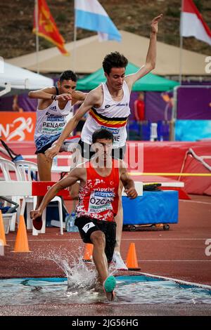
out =
[[[51,166],[52,160],[46,158],[45,154],[37,154],[37,166],[40,181],[51,181]],[[37,196],[37,206],[36,209],[41,204],[44,196]]]

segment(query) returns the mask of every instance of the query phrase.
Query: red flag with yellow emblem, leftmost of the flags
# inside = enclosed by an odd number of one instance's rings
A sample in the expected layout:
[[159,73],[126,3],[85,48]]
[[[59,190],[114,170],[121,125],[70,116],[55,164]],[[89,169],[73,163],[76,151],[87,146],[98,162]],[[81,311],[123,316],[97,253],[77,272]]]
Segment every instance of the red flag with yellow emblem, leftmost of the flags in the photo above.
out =
[[[70,55],[65,49],[65,40],[58,32],[56,22],[53,20],[49,7],[46,4],[46,0],[38,0],[37,5],[38,20],[36,19],[36,10],[34,8],[33,32],[56,45],[63,55]],[[36,22],[38,23],[38,26]]]

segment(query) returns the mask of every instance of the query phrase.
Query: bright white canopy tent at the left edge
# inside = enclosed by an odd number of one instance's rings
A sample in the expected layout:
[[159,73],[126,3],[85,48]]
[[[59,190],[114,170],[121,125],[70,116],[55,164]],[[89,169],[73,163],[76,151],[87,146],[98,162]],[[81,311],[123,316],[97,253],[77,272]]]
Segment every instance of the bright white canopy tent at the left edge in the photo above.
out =
[[1,65],[0,87],[3,87],[4,90],[0,91],[0,96],[10,92],[11,88],[39,89],[49,86],[53,86],[53,79],[51,78],[16,67],[7,62]]

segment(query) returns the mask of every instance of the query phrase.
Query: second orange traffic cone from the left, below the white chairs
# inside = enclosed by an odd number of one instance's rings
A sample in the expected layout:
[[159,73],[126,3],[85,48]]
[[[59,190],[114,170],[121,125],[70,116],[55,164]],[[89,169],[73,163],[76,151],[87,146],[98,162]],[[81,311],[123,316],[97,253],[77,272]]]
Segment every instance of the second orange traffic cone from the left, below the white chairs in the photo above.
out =
[[13,252],[31,252],[29,249],[27,231],[23,216],[20,216],[20,222],[18,226],[18,232],[15,239],[15,247]]

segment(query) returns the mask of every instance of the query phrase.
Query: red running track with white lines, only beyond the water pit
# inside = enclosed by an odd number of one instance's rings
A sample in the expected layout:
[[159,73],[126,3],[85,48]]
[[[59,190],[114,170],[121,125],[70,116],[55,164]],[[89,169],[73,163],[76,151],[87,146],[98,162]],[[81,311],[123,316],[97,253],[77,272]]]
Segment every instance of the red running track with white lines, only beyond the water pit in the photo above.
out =
[[[171,224],[169,231],[123,232],[122,258],[127,258],[129,244],[134,242],[141,272],[211,285],[211,256],[206,255],[206,251],[211,254],[211,197],[192,195],[191,198],[179,202],[179,223]],[[59,228],[51,227],[39,236],[28,231],[32,253],[11,253],[15,236],[16,232],[6,235],[9,246],[5,248],[5,256],[0,257],[1,278],[63,276],[56,264],[40,256],[60,247],[73,252],[84,246],[78,233],[65,232],[61,236]]]

